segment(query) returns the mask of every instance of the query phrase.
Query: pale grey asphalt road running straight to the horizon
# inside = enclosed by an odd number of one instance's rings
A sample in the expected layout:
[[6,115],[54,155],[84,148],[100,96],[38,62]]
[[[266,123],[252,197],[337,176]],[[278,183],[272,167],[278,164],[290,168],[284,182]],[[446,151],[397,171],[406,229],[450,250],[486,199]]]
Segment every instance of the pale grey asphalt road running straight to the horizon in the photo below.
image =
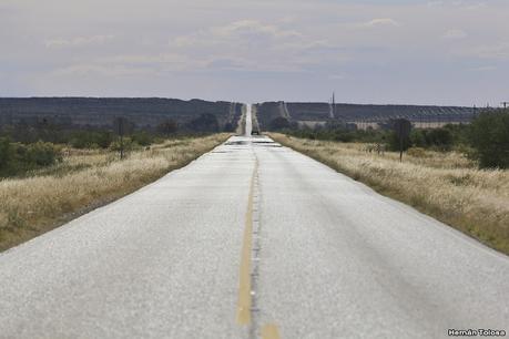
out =
[[255,338],[267,325],[266,338],[507,331],[509,258],[250,136],[0,255],[0,338]]

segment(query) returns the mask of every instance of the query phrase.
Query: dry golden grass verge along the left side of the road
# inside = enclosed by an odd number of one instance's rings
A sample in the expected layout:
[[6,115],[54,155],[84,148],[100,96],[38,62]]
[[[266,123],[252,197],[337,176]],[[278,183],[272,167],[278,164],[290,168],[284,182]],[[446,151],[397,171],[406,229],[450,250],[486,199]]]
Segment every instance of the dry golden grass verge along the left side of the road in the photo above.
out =
[[62,150],[62,160],[0,181],[0,250],[146,185],[224,142],[228,134],[169,140],[130,152]]

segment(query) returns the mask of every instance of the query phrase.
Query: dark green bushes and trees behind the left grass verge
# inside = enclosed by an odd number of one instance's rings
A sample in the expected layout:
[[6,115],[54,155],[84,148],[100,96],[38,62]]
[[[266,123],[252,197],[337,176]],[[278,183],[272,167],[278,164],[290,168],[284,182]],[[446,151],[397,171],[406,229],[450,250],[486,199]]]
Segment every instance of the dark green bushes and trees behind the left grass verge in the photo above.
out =
[[122,119],[122,140],[114,127],[68,126],[51,122],[34,124],[19,123],[0,126],[0,177],[22,175],[61,161],[64,146],[73,148],[102,148],[129,152],[146,147],[164,138],[205,135],[222,131],[231,132],[233,126],[221,127],[214,114],[204,113],[180,125],[174,120],[165,120],[155,129],[135,129],[134,124]]

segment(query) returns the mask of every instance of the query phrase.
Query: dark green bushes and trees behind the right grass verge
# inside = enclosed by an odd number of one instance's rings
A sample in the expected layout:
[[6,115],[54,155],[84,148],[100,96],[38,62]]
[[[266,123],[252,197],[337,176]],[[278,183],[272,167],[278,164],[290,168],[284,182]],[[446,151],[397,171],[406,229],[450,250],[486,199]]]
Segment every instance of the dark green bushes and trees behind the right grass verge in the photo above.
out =
[[[314,129],[295,126],[284,117],[272,121],[275,131],[311,140],[381,143],[390,151],[399,150],[399,140],[390,130],[354,130],[337,123]],[[277,121],[276,121],[277,120]],[[456,150],[478,161],[481,168],[509,168],[509,112],[491,110],[478,114],[470,124],[448,124],[440,129],[414,129],[404,140],[404,148]]]

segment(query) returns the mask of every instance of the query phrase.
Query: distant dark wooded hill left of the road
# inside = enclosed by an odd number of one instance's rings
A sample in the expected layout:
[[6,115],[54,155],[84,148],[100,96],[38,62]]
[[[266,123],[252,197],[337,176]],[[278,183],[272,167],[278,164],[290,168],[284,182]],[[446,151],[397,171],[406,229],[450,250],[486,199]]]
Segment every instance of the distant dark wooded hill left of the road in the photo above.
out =
[[186,125],[212,114],[221,127],[236,125],[241,104],[183,101],[162,97],[0,97],[0,125],[51,123],[65,126],[111,127],[115,117],[128,119],[138,129],[153,129],[173,120]]

